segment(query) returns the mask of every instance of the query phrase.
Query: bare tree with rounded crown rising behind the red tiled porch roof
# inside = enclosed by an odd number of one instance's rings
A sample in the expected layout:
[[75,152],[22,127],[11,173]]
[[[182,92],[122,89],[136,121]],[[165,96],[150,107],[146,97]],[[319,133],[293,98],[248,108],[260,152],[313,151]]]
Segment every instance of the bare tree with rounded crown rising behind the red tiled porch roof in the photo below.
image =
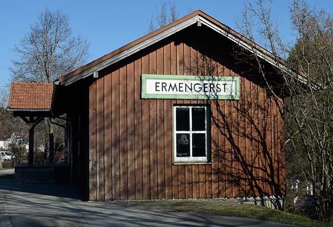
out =
[[[88,48],[86,39],[72,35],[68,15],[60,10],[52,12],[46,9],[13,49],[18,57],[12,60],[10,67],[12,80],[50,83],[83,65],[89,57]],[[50,162],[53,162],[54,128],[50,120],[44,123]]]

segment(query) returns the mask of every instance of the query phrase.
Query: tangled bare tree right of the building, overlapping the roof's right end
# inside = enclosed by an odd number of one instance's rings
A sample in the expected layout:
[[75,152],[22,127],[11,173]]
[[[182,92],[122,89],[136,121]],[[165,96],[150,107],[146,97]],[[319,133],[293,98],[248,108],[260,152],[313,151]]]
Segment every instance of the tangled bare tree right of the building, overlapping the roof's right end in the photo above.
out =
[[[272,55],[280,84],[270,83],[263,70],[265,63],[255,44],[248,59],[256,67],[273,96],[286,95],[285,111],[287,154],[297,157],[296,172],[313,186],[318,218],[333,220],[333,19],[324,10],[310,8],[295,0],[290,7],[290,21],[296,43],[284,43],[278,23],[273,19],[272,1],[247,3],[238,22],[241,32],[259,41]],[[282,63],[284,60],[293,63]],[[299,70],[300,69],[300,70]],[[301,77],[299,76],[301,75]],[[277,85],[279,89],[276,89]],[[279,99],[277,99],[279,100]],[[287,167],[288,168],[288,167]]]

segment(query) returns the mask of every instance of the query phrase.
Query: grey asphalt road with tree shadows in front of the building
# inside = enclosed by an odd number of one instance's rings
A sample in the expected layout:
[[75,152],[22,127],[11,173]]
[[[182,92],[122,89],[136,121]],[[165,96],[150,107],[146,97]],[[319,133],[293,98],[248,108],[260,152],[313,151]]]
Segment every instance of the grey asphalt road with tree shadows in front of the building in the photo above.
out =
[[290,226],[238,217],[160,213],[122,202],[86,202],[68,185],[0,179],[0,226]]

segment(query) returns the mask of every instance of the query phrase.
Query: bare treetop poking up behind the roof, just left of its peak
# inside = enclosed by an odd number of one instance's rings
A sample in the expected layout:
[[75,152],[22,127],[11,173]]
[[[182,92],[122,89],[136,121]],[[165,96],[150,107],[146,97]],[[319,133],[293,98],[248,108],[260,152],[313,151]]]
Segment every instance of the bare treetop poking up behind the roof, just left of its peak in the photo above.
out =
[[147,32],[151,33],[156,30],[155,22],[157,22],[158,28],[162,28],[165,25],[177,20],[178,16],[176,2],[161,2],[159,7],[156,5],[156,15],[154,16],[154,14],[152,14],[152,17],[148,20]]

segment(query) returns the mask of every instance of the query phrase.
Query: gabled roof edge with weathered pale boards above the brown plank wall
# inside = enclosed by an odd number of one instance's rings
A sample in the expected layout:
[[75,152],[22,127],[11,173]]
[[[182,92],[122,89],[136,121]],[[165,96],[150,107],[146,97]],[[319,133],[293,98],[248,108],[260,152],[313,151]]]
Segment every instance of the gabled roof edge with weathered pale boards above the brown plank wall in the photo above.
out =
[[247,51],[252,53],[256,53],[258,57],[264,59],[269,64],[273,66],[280,67],[286,73],[293,74],[297,77],[301,82],[306,82],[305,76],[301,71],[295,68],[294,72],[290,72],[287,66],[290,66],[286,61],[280,58],[276,58],[272,53],[267,51],[266,49],[259,46],[257,43],[247,39],[240,33],[231,29],[230,27],[222,24],[220,21],[214,19],[210,15],[202,12],[201,10],[196,10],[189,15],[186,15],[169,25],[166,25],[148,35],[145,35],[133,42],[126,44],[125,46],[106,54],[78,69],[72,71],[71,73],[61,76],[57,79],[63,85],[69,85],[74,83],[77,80],[88,77],[93,74],[93,72],[97,72],[99,70],[104,69],[105,67],[120,61],[123,58],[126,58],[144,48],[151,46],[152,44],[178,32],[181,31],[193,24],[201,24],[211,28],[212,30],[218,32],[222,36],[227,39],[232,40],[233,42],[239,44],[239,46],[243,47]]

